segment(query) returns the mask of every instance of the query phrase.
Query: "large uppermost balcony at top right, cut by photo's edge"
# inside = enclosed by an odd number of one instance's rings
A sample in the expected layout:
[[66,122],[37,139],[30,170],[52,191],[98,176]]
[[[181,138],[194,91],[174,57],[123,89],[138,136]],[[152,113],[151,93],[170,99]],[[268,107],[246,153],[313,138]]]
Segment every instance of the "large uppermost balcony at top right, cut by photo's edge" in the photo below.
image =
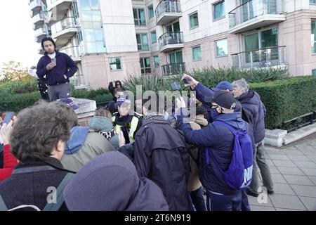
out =
[[251,0],[228,13],[230,33],[240,33],[285,20],[283,0]]

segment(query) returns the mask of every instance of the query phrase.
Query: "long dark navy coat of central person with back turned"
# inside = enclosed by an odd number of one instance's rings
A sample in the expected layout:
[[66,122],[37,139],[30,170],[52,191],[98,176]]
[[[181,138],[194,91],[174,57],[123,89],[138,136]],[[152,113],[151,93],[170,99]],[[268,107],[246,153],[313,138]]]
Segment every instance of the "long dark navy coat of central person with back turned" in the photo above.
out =
[[140,177],[162,188],[169,210],[191,210],[187,198],[190,160],[180,131],[164,121],[143,124],[135,136],[134,164]]

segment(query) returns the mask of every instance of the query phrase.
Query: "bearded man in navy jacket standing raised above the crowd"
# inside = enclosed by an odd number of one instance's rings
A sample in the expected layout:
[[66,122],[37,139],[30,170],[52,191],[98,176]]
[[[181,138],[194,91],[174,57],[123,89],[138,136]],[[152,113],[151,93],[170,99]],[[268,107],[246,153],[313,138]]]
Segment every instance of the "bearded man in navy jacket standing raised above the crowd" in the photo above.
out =
[[78,70],[76,63],[67,54],[56,51],[55,41],[50,37],[41,40],[41,47],[45,50],[45,55],[37,64],[37,75],[39,78],[46,75],[49,100],[70,98],[72,94],[69,78]]

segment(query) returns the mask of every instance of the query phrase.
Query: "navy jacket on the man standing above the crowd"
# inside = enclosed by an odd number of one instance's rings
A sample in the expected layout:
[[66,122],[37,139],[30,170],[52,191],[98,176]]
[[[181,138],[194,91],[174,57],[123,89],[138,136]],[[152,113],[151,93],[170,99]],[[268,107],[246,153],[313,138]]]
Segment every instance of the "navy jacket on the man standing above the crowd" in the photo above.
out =
[[[69,78],[72,77],[78,70],[74,60],[65,53],[56,51],[56,66],[52,70],[46,70],[46,66],[51,63],[48,53],[45,53],[41,57],[39,63],[37,63],[37,76],[39,78],[46,75],[46,81],[48,85],[62,84],[70,82]],[[64,75],[67,76],[65,79]]]

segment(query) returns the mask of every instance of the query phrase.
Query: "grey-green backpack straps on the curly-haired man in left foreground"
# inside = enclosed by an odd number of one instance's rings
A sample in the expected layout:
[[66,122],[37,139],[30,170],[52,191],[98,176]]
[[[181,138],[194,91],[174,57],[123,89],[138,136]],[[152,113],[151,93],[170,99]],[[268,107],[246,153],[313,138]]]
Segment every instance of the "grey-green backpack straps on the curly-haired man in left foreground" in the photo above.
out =
[[[45,205],[43,211],[58,211],[58,210],[60,210],[60,207],[65,202],[62,193],[63,193],[65,187],[67,186],[67,184],[72,180],[73,176],[74,176],[74,174],[72,174],[72,173],[66,174],[66,176],[64,177],[64,179],[62,179],[58,188],[56,189],[57,203],[47,203]],[[37,211],[41,211],[39,209],[39,207],[37,207],[35,205],[19,205],[18,207],[15,207],[11,210],[8,210],[6,203],[4,203],[4,200],[0,195],[0,211],[15,211],[15,210],[19,210],[19,209],[26,208],[26,207],[33,208],[34,210],[37,210]]]

